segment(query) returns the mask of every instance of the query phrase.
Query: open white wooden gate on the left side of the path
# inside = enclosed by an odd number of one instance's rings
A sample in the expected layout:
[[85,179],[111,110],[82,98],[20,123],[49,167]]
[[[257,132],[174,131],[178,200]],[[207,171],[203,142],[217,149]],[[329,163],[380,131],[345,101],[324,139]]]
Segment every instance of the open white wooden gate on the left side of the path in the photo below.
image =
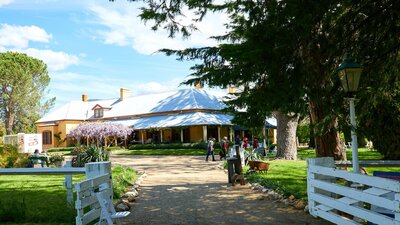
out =
[[101,207],[96,198],[96,192],[106,191],[112,201],[111,163],[102,162],[88,168],[90,168],[90,171],[87,174],[87,179],[75,184],[77,225],[86,225],[99,219]]

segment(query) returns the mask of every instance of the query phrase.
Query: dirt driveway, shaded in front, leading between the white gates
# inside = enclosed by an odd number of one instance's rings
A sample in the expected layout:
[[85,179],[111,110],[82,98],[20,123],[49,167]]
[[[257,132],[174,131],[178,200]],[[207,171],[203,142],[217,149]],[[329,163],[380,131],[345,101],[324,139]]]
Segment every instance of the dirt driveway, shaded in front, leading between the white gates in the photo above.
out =
[[217,162],[200,156],[112,156],[145,170],[140,196],[123,224],[330,224],[263,198],[247,185],[230,186]]

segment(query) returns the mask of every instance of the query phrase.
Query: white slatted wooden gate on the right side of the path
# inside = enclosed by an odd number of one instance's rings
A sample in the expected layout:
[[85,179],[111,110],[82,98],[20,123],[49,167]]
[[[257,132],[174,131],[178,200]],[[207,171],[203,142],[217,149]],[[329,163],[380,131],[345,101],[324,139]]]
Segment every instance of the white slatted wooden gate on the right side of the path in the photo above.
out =
[[307,159],[307,193],[315,217],[340,225],[400,224],[399,181],[336,169],[333,158]]

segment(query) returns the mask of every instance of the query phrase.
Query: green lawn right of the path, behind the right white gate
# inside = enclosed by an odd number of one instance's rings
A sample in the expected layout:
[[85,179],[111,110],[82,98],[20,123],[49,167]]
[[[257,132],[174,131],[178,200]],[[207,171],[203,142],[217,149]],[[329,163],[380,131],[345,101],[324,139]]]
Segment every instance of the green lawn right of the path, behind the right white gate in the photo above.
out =
[[[346,151],[347,159],[351,160],[351,149]],[[302,159],[315,157],[315,150],[299,149],[298,157]],[[366,148],[359,149],[360,160],[382,159],[382,155],[377,151]],[[296,198],[307,199],[307,165],[305,160],[270,160],[270,170],[268,174],[250,174],[248,180],[257,182],[265,187],[273,188],[280,193]],[[396,171],[398,168],[367,168],[369,174],[373,171]]]

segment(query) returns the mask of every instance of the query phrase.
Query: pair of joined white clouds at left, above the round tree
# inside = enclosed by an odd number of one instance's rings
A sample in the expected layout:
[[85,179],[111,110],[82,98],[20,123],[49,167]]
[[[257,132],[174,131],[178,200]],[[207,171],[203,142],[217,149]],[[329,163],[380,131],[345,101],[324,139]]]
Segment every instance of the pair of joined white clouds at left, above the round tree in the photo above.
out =
[[0,24],[0,52],[23,52],[43,60],[50,71],[59,71],[77,65],[79,57],[50,49],[29,48],[31,42],[50,43],[52,35],[37,26]]

